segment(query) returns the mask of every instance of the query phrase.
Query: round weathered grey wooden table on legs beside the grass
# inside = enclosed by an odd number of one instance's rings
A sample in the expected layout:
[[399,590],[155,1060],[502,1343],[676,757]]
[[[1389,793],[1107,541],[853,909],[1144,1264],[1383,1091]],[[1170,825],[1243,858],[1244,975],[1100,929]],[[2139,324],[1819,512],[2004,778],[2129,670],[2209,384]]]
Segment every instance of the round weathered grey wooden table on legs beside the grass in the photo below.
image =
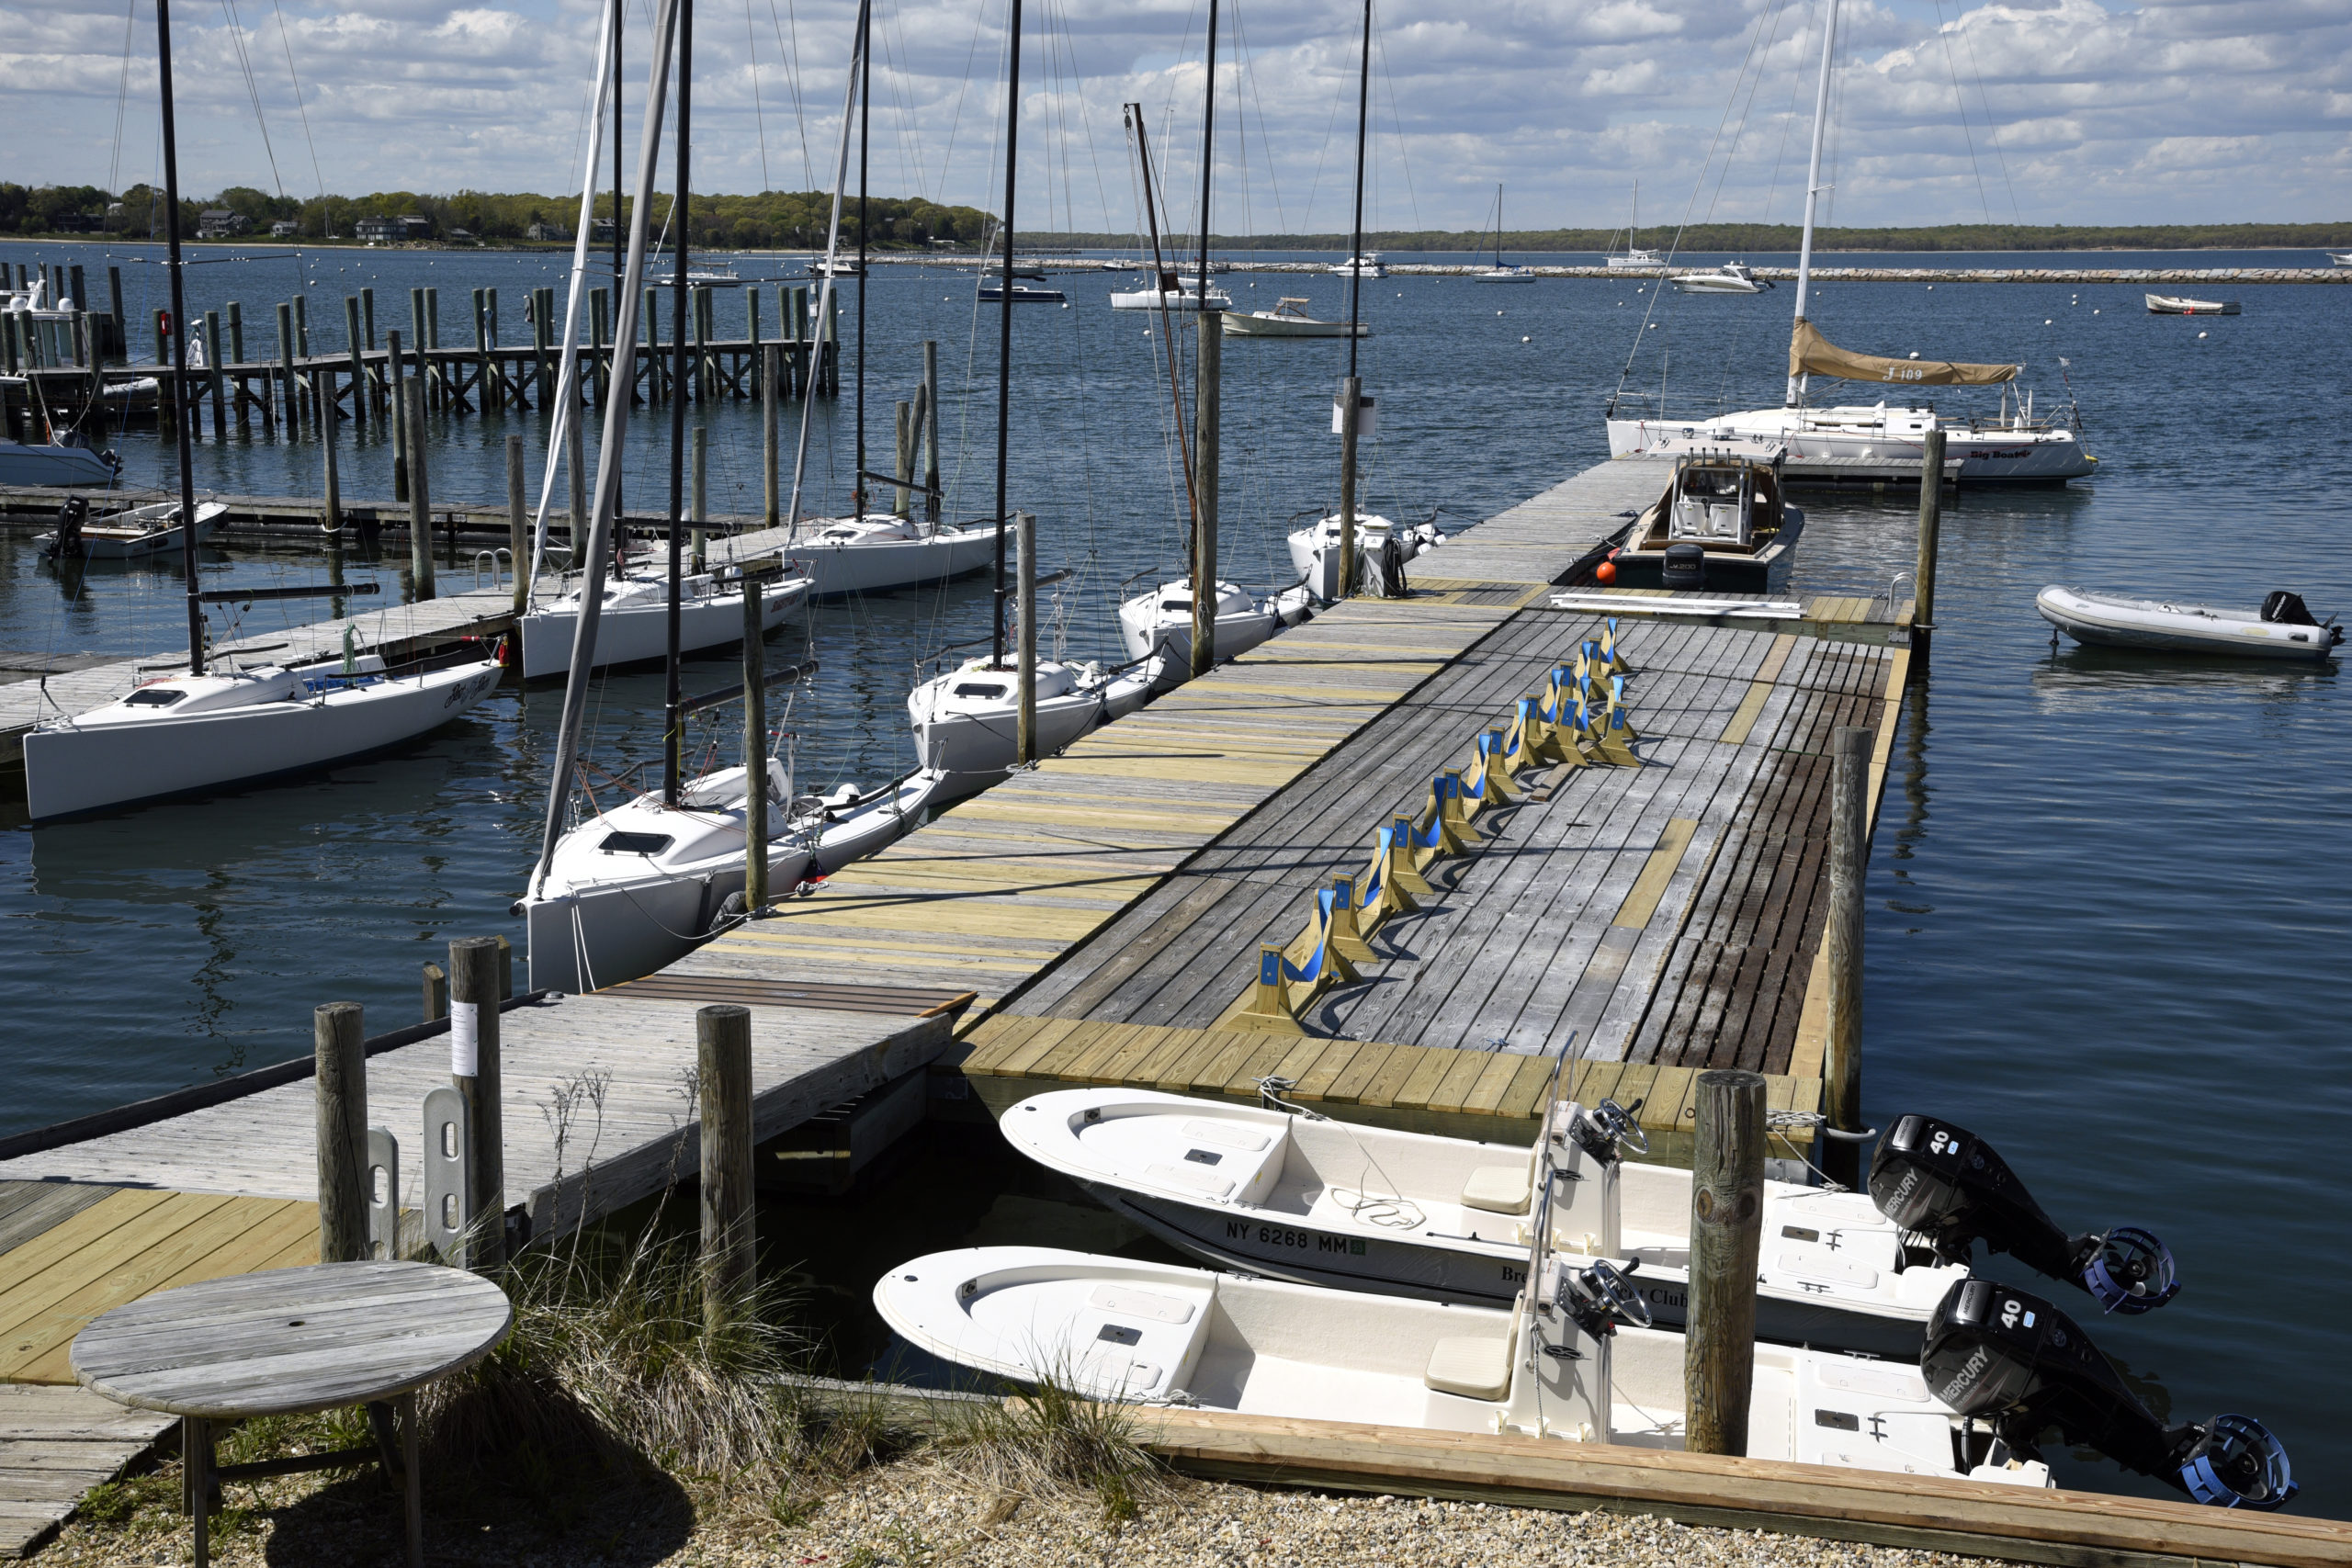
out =
[[[96,1316],[73,1375],[96,1394],[179,1415],[195,1563],[209,1554],[212,1483],[381,1462],[407,1493],[409,1566],[423,1563],[416,1389],[487,1356],[515,1312],[496,1284],[428,1262],[322,1262],[160,1291]],[[400,1413],[400,1460],[386,1403]],[[369,1406],[376,1448],[212,1462],[212,1425]]]

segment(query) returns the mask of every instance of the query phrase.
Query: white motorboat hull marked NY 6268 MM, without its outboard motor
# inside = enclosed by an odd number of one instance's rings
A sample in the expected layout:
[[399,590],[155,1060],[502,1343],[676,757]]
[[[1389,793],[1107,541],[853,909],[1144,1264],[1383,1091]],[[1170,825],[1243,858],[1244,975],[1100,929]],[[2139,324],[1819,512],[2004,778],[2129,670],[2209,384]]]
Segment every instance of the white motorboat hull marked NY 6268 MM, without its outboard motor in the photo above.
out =
[[[1004,1112],[1004,1138],[1108,1208],[1216,1265],[1315,1286],[1508,1302],[1536,1199],[1573,1267],[1635,1258],[1661,1324],[1686,1316],[1691,1173],[1621,1161],[1623,1124],[1562,1107],[1538,1147],[1397,1133],[1143,1088],[1063,1088]],[[1917,1359],[1969,1276],[1905,1253],[1867,1192],[1764,1185],[1757,1338]]]

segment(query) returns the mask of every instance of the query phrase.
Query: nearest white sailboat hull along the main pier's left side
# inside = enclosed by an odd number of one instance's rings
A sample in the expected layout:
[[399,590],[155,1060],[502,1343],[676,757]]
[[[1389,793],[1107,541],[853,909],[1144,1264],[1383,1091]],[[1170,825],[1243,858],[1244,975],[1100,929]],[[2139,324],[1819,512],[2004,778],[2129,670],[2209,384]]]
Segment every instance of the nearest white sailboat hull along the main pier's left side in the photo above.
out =
[[[703,773],[668,806],[661,790],[602,811],[555,844],[513,912],[524,919],[532,987],[590,992],[649,976],[715,936],[743,893],[743,769]],[[870,856],[922,820],[941,773],[880,790],[793,795],[769,757],[769,889],[793,891]]]

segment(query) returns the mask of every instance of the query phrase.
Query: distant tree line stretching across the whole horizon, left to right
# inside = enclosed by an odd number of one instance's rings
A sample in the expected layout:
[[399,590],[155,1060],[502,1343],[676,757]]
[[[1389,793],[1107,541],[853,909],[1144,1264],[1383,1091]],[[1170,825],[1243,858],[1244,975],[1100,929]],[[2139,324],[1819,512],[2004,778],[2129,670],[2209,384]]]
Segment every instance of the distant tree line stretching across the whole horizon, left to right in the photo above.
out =
[[[595,216],[612,221],[612,193],[597,197]],[[842,244],[858,242],[856,202],[842,205]],[[181,200],[181,233],[195,237],[205,212],[235,212],[254,235],[266,237],[273,223],[292,221],[303,240],[350,240],[360,219],[421,216],[435,237],[456,230],[475,240],[527,242],[536,226],[541,235],[569,237],[579,202],[555,195],[494,195],[459,190],[428,195],[421,190],[376,190],[369,195],[287,197],[230,186],[207,200]],[[988,242],[995,219],[978,207],[941,207],[922,197],[873,197],[870,244],[875,249],[978,249]],[[623,216],[628,202],[621,205]],[[696,195],[689,205],[694,249],[809,249],[826,242],[833,195],[826,190],[762,190],[760,195]],[[656,195],[652,228],[668,223],[670,197]],[[120,195],[96,186],[14,186],[0,183],[0,233],[73,235],[111,233],[162,237],[162,193],[132,186]],[[1665,249],[1675,242],[1670,228],[1644,228],[1642,242]],[[1693,223],[1682,230],[1686,252],[1792,252],[1795,223]],[[1364,244],[1383,252],[1463,252],[1491,244],[1491,235],[1451,230],[1383,230],[1364,235]],[[1519,228],[1503,235],[1512,252],[1606,252],[1625,242],[1625,230],[1604,228]],[[1025,233],[1021,247],[1115,247],[1136,244],[1131,233]],[[1185,235],[1162,235],[1167,254],[1181,256]],[[1348,235],[1211,235],[1221,252],[1244,249],[1348,249]],[[2345,249],[2352,247],[2352,223],[1938,223],[1933,228],[1823,228],[1816,249],[1830,252],[2096,252],[2096,249]]]

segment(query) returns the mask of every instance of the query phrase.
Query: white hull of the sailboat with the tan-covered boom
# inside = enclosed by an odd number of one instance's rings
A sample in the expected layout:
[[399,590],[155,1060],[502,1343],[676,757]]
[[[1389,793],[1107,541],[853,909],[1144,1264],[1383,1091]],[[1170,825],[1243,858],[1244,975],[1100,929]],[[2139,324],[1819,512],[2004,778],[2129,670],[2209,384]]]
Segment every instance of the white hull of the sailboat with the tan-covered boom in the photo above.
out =
[[[1710,418],[1611,418],[1609,456],[1637,456],[1663,444],[1710,440],[1731,451],[1752,449],[1757,456],[1780,447],[1790,461],[1919,461],[1922,437],[1933,425],[1915,418],[1889,418],[1884,425],[1875,425],[1860,418],[1867,414],[1875,409],[1759,409]],[[2044,484],[2082,480],[2098,468],[2098,458],[2082,449],[2072,430],[2039,425],[2030,430],[1945,425],[1945,461],[1952,458],[1959,458],[1962,484]]]

